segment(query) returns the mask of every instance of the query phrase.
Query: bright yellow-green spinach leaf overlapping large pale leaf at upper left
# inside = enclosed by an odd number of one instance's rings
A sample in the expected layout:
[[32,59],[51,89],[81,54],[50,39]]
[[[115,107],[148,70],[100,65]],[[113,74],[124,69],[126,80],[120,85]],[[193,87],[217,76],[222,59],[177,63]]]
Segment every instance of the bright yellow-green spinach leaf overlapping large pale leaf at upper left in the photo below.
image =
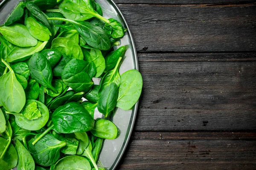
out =
[[28,28],[29,33],[40,41],[48,41],[50,35],[52,35],[46,26],[41,25],[32,17],[26,19],[26,27]]

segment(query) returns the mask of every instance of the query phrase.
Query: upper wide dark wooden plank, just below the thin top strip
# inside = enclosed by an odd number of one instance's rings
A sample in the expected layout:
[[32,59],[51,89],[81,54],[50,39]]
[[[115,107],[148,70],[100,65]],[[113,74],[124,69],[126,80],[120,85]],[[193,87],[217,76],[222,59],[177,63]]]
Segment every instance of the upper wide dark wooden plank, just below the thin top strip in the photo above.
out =
[[138,52],[256,50],[256,7],[119,4]]

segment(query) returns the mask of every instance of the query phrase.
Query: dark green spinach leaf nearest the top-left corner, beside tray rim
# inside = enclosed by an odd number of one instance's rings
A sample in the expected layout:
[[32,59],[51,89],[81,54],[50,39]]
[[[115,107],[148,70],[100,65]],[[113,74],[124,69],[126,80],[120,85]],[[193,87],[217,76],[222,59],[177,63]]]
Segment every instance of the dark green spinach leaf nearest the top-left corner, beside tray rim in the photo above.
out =
[[24,2],[20,2],[12,11],[12,13],[7,17],[4,25],[9,26],[12,23],[15,23],[19,20],[24,14],[24,8],[26,4]]

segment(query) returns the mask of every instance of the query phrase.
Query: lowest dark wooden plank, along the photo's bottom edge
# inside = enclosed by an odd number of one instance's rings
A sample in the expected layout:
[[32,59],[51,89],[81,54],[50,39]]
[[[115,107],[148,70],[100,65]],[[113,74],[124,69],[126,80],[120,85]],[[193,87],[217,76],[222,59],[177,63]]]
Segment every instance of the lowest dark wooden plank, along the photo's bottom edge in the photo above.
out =
[[256,133],[135,133],[118,169],[254,170],[255,139]]

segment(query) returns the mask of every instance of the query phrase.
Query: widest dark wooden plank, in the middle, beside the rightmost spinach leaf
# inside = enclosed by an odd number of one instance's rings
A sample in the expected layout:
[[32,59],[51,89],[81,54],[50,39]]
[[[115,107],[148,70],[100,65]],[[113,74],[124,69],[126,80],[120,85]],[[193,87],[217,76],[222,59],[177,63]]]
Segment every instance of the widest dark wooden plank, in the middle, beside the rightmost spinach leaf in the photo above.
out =
[[256,62],[139,65],[144,84],[136,130],[256,129]]

